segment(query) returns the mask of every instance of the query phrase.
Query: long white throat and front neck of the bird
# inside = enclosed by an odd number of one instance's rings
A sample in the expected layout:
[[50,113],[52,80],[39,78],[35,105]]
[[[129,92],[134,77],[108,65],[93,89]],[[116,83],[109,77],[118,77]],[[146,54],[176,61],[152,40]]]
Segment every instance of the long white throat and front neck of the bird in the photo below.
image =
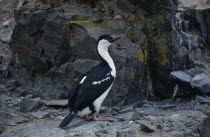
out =
[[108,48],[112,43],[108,42],[107,40],[100,40],[98,44],[99,55],[108,63],[109,67],[112,69],[112,76],[116,77],[116,68],[114,65],[114,61],[112,60],[108,52]]

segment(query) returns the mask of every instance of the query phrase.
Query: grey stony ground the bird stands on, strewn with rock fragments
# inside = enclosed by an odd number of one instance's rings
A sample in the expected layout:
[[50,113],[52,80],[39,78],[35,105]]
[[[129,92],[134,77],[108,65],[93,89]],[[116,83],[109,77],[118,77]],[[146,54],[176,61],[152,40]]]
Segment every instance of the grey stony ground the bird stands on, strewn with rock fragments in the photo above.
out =
[[[12,87],[12,86],[10,86]],[[8,89],[8,88],[7,88]],[[5,90],[1,86],[0,91]],[[5,92],[4,92],[5,93]],[[122,107],[102,107],[107,121],[75,118],[65,129],[58,128],[68,113],[67,100],[44,101],[23,98],[7,91],[0,96],[0,137],[208,137],[210,102],[168,99],[137,102]],[[209,111],[208,111],[209,110]]]

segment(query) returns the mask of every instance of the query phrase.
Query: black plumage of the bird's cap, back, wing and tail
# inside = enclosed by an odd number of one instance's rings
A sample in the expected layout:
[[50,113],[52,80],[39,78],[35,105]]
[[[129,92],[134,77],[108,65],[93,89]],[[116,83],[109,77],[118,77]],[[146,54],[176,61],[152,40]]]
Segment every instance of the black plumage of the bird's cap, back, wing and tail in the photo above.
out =
[[[114,42],[117,39],[119,39],[119,37],[104,35],[99,38],[98,42],[100,40],[107,40],[107,43],[109,44],[109,42]],[[99,45],[97,44],[97,46]],[[111,72],[112,68],[109,66],[106,59],[102,57],[102,62],[99,65],[95,66],[77,79],[69,94],[70,113],[61,122],[59,127],[63,128],[67,126],[74,116],[85,108],[89,108],[90,112],[93,114],[97,112],[97,106],[95,106],[96,104],[94,104],[94,101],[111,88],[115,79],[115,76],[113,76]],[[85,115],[89,115],[89,113]]]

